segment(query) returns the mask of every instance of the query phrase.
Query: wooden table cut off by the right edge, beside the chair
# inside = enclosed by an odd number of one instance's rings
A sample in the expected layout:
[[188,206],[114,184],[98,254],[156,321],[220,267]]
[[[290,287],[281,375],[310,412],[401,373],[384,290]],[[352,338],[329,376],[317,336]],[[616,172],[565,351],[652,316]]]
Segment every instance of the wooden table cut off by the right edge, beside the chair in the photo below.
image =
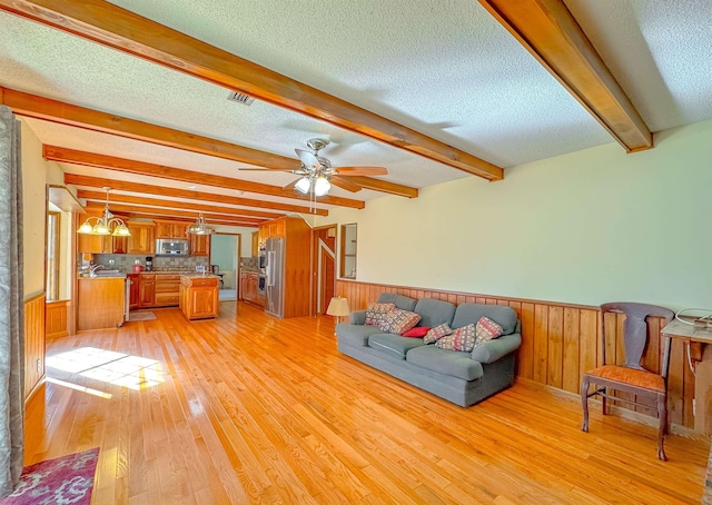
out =
[[695,327],[673,319],[662,334],[679,338],[688,346],[690,362],[694,362],[694,429],[712,435],[712,328]]

